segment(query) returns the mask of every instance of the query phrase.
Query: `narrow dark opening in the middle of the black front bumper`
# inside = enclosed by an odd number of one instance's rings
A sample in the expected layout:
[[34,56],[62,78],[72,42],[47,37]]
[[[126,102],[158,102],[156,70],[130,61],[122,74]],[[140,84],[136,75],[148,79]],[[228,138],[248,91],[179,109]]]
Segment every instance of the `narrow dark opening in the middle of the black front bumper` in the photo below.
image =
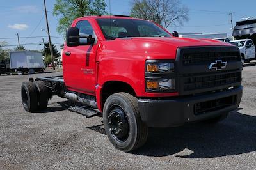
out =
[[218,98],[215,100],[209,100],[206,102],[200,102],[194,105],[194,114],[205,114],[207,112],[213,112],[225,107],[236,104],[237,95],[232,95],[230,97]]

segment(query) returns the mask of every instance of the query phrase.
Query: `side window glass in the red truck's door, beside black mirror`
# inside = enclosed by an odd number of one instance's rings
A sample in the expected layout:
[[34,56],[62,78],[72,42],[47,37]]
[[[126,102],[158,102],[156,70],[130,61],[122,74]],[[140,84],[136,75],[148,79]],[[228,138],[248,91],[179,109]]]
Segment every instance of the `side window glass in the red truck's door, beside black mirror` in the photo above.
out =
[[[92,25],[88,20],[77,22],[76,27],[79,29],[79,35],[93,35]],[[87,43],[87,38],[80,38],[80,43]]]

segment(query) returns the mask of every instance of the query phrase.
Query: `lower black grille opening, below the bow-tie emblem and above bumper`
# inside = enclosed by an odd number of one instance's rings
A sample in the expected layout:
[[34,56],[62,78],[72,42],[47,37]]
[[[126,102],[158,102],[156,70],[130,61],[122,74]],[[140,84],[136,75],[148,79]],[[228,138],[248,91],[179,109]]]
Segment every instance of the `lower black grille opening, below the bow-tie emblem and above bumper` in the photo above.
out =
[[225,86],[241,81],[241,72],[206,76],[191,76],[184,79],[184,91]]

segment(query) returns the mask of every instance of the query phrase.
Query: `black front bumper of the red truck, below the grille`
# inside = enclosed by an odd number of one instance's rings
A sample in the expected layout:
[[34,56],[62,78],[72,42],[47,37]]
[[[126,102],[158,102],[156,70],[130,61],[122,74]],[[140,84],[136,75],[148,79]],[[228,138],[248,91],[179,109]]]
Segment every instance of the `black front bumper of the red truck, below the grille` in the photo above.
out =
[[[193,121],[207,120],[208,118],[214,118],[215,116],[233,111],[239,107],[242,93],[243,86],[239,86],[238,88],[227,91],[195,97],[177,97],[168,100],[139,99],[138,105],[141,119],[147,123],[148,127],[175,127]],[[195,113],[196,105],[200,103],[222,101],[223,98],[225,100],[228,97],[234,97],[234,102],[230,105],[216,107],[200,114]]]

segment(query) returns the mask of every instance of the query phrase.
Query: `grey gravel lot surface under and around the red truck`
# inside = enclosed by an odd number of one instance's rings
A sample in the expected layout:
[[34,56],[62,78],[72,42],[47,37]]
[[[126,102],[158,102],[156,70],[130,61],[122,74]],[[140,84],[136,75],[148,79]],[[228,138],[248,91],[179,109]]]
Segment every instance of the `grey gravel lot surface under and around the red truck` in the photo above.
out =
[[[24,111],[20,86],[28,77],[0,76],[0,169],[256,169],[256,65],[244,67],[237,111],[212,126],[150,128],[140,150],[116,150],[102,119],[67,110],[54,97],[44,112]],[[101,132],[101,133],[100,133]]]

